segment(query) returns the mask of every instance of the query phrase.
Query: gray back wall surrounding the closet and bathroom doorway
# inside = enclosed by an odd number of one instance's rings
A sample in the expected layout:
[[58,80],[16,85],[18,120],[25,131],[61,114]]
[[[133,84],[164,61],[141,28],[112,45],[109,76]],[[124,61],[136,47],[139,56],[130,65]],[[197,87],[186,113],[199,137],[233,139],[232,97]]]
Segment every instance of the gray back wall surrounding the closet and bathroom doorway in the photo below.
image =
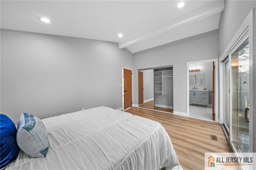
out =
[[[134,53],[134,70],[173,65],[174,111],[186,113],[187,62],[216,59],[218,30],[181,39],[166,45]],[[134,104],[138,104],[138,73],[133,74]]]

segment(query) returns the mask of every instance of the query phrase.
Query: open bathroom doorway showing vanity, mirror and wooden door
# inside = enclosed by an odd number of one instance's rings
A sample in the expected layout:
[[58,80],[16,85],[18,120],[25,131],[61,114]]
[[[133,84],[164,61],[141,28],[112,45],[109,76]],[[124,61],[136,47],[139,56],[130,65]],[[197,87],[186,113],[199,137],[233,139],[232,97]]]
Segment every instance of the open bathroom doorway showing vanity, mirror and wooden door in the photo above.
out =
[[187,115],[206,121],[218,120],[218,59],[187,63]]

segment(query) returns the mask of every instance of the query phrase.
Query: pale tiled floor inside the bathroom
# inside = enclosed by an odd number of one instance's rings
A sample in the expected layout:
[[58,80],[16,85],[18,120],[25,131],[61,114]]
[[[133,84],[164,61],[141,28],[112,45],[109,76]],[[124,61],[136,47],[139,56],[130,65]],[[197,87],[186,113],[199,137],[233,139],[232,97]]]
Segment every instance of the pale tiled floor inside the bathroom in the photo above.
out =
[[213,121],[212,120],[212,107],[191,106],[190,105],[189,106],[189,117],[207,120],[207,121]]

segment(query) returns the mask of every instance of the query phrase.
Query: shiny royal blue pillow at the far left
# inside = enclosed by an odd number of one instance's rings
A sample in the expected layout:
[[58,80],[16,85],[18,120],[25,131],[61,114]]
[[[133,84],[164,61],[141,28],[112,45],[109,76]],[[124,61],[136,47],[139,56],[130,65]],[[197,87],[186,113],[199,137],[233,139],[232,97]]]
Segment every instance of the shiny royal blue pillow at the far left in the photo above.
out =
[[4,114],[0,114],[0,129],[0,168],[2,169],[17,158],[20,148],[16,141],[16,126],[12,120]]

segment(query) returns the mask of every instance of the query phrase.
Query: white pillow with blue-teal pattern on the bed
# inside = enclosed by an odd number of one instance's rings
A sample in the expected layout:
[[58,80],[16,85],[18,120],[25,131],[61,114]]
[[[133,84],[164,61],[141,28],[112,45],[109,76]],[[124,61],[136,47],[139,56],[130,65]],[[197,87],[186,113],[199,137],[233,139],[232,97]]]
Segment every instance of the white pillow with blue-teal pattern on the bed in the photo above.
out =
[[44,123],[34,115],[22,113],[18,122],[17,143],[29,156],[45,157],[49,143]]

